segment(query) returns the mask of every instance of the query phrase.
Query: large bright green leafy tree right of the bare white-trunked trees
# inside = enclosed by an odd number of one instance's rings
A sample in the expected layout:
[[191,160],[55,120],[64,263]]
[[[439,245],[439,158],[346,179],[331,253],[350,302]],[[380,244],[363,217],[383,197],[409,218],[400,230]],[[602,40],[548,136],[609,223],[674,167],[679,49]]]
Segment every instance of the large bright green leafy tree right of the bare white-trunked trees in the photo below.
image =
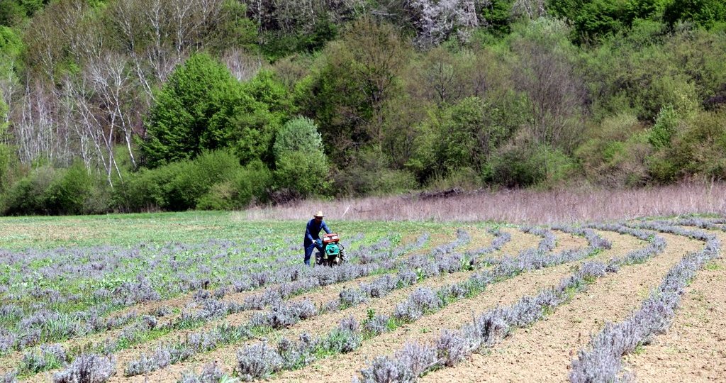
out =
[[271,162],[272,138],[289,108],[284,86],[269,71],[240,84],[211,56],[196,54],[158,92],[139,147],[150,167],[220,148],[232,148],[244,164]]

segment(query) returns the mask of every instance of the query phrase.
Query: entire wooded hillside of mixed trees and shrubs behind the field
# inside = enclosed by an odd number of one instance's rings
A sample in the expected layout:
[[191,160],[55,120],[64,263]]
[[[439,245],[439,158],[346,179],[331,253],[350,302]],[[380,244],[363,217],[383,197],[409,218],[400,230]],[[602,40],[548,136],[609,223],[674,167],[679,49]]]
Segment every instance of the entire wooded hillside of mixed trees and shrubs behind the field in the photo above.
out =
[[3,214],[726,177],[720,0],[0,2]]

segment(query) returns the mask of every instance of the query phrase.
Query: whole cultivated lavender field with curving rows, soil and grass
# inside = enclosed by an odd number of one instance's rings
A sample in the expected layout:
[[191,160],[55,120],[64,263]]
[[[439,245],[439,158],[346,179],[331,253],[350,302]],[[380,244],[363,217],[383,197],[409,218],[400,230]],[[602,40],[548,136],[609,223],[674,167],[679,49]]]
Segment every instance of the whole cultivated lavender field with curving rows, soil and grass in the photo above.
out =
[[0,382],[709,382],[726,219],[3,218]]

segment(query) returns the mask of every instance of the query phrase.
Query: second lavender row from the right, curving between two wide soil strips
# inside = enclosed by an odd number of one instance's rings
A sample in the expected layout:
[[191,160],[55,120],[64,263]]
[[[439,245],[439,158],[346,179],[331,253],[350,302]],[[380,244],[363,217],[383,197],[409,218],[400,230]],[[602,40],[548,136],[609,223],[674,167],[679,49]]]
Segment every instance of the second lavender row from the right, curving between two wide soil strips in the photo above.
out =
[[[613,227],[619,231],[627,231],[625,227]],[[560,230],[567,230],[560,228]],[[587,229],[585,229],[587,230]],[[579,230],[578,230],[579,231]],[[583,233],[584,234],[584,233]],[[656,242],[658,238],[652,235],[637,231],[637,235],[649,238],[650,243]],[[590,237],[590,246],[603,249],[604,246],[597,246],[602,238],[595,236],[590,230],[587,233]],[[608,241],[602,242],[607,245]],[[636,259],[633,253],[642,254],[647,251],[648,257],[653,257],[662,251],[659,246],[648,246],[645,249],[632,251],[621,259],[611,260],[611,265],[626,265]],[[640,262],[647,258],[637,257]],[[528,326],[534,321],[544,318],[544,315],[551,312],[558,305],[567,302],[568,297],[576,291],[581,291],[587,284],[595,281],[596,278],[606,273],[616,273],[617,269],[609,267],[602,262],[585,262],[573,275],[564,278],[554,289],[541,291],[534,297],[523,297],[510,307],[496,307],[479,315],[458,331],[444,330],[441,336],[436,339],[433,346],[427,344],[409,343],[396,352],[393,357],[379,356],[375,358],[370,366],[363,368],[361,376],[354,380],[365,383],[372,382],[415,382],[418,376],[436,368],[454,366],[466,355],[469,355],[481,347],[492,347],[504,339],[513,328]]]

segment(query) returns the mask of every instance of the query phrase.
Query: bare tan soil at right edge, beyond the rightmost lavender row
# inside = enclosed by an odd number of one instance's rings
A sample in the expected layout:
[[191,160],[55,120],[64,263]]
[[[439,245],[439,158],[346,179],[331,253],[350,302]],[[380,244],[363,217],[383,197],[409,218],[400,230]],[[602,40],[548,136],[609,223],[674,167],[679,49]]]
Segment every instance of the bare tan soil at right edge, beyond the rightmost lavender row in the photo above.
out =
[[[690,227],[693,229],[693,227]],[[726,244],[726,233],[712,231]],[[682,295],[671,328],[625,358],[638,382],[726,381],[726,259],[701,270]]]

